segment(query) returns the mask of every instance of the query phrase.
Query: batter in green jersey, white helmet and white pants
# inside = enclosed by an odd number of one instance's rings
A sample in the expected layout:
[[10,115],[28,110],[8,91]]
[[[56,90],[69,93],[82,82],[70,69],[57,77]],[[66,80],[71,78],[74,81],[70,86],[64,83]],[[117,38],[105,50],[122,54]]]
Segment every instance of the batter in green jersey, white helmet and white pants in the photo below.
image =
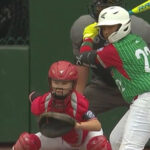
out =
[[143,150],[150,138],[150,50],[142,38],[130,34],[131,18],[122,7],[103,9],[95,27],[108,44],[97,52],[83,52],[77,64],[110,68],[122,96],[130,103],[111,132],[112,150]]

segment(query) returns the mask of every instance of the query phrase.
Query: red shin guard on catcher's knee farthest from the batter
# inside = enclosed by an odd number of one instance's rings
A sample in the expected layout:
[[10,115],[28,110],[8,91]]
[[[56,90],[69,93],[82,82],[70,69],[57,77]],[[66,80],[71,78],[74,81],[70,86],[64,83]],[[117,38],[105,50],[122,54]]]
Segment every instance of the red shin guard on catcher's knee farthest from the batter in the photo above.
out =
[[24,132],[20,135],[13,150],[39,150],[41,141],[35,134]]

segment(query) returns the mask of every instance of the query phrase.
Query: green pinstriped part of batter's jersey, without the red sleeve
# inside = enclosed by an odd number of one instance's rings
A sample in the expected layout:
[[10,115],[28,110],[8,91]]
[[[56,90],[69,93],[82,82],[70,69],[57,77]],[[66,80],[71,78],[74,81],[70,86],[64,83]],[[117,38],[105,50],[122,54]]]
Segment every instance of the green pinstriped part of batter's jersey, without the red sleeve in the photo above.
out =
[[112,68],[123,97],[130,102],[135,96],[150,91],[150,50],[138,36],[129,34],[114,44],[128,77]]

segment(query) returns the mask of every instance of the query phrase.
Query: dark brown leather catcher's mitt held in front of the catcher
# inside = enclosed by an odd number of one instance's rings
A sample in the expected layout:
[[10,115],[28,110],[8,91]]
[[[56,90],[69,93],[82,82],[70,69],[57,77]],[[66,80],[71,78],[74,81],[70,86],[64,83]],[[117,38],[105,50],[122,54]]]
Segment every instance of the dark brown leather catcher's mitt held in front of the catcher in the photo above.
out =
[[39,118],[39,130],[44,136],[55,138],[69,132],[75,123],[75,119],[67,114],[46,112]]

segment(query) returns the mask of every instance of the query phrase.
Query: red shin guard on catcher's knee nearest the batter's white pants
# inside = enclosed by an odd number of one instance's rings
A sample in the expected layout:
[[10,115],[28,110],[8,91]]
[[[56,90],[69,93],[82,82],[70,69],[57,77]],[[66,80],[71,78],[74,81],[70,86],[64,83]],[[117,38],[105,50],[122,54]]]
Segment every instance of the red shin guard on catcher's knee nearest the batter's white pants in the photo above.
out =
[[87,150],[112,150],[104,135],[93,137],[87,144]]

